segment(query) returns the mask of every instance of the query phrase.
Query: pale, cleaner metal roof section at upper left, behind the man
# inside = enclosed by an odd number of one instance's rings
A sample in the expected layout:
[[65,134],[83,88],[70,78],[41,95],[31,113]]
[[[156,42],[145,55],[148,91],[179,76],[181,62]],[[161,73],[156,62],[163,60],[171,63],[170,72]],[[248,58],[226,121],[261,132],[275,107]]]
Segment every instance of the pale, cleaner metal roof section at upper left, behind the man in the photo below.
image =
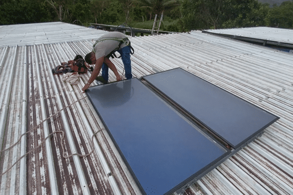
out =
[[3,25],[0,26],[0,46],[96,39],[105,32],[64,22]]

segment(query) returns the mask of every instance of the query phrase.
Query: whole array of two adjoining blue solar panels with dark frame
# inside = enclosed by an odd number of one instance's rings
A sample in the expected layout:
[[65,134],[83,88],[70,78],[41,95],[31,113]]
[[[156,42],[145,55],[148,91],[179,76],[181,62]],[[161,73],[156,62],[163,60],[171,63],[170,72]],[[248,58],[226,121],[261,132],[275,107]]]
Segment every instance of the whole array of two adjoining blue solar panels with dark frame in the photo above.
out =
[[[141,80],[143,80],[143,82]],[[170,90],[172,87],[178,89],[178,92],[176,89],[175,91]],[[198,93],[200,88],[203,89],[201,93]],[[195,94],[192,94],[194,91]],[[208,93],[205,91],[208,91]],[[196,95],[196,93],[202,94],[202,97],[196,99],[196,96],[193,96]],[[188,185],[194,183],[225,159],[235,154],[241,147],[246,146],[250,141],[260,136],[266,127],[279,119],[279,117],[181,68],[148,75],[142,79],[132,78],[130,80],[93,86],[86,91],[86,94],[94,105],[98,115],[101,117],[109,136],[122,156],[130,174],[133,176],[137,186],[144,195],[181,193]],[[178,94],[179,98],[176,97]],[[184,95],[185,98],[182,97],[182,95]],[[228,102],[226,98],[229,99]],[[197,101],[194,101],[194,99]],[[224,109],[223,113],[228,115],[226,118],[225,116],[221,118],[225,121],[224,127],[226,127],[226,124],[229,124],[230,121],[231,123],[236,123],[236,126],[233,126],[236,128],[230,128],[229,131],[230,133],[234,133],[235,131],[236,134],[240,134],[240,139],[235,139],[233,135],[229,135],[230,137],[228,136],[228,138],[227,135],[225,137],[225,133],[227,133],[225,132],[225,128],[224,131],[221,128],[220,131],[218,131],[217,128],[214,128],[215,126],[213,123],[209,123],[210,118],[211,121],[216,118],[214,117],[214,113],[216,113],[216,116],[219,115],[219,113],[209,110],[209,103],[212,104],[212,100],[214,99],[219,99],[219,101],[215,101],[216,103],[212,105],[211,108],[213,109],[216,107],[216,109],[218,109],[217,112],[220,111],[220,114],[222,114],[221,109]],[[185,104],[186,102],[182,100],[186,100],[188,103],[191,102],[191,105],[196,103],[199,104],[192,107]],[[102,105],[101,102],[104,105]],[[224,106],[221,106],[222,104]],[[208,107],[206,105],[208,105]],[[198,113],[193,112],[192,109],[197,106],[205,108],[208,117],[205,116],[206,118],[202,118],[201,116],[202,112],[205,113],[205,109],[200,110],[201,112]],[[217,108],[217,106],[219,108]],[[244,115],[237,111],[239,110],[238,106],[243,106],[241,108],[243,108]],[[226,107],[229,107],[233,112],[230,113],[230,110],[227,112]],[[250,111],[253,115],[252,117],[250,116]],[[131,114],[128,117],[121,117],[129,113]],[[241,116],[239,117],[241,120],[233,117],[234,115]],[[231,117],[230,120],[229,116]],[[248,120],[246,120],[246,117]],[[169,118],[169,121],[166,122],[166,118]],[[227,118],[228,120],[226,120]],[[206,119],[208,119],[208,122]],[[119,121],[117,124],[116,120]],[[246,126],[244,126],[246,121],[251,122],[251,126],[253,127],[249,134],[243,131],[246,130]],[[215,120],[212,122],[217,124],[221,123],[222,120]],[[260,122],[260,124],[257,124],[257,122]],[[143,125],[140,123],[143,123]],[[199,125],[195,125],[198,123]],[[178,126],[178,124],[180,125]],[[133,129],[131,125],[136,128]],[[156,127],[158,125],[161,125],[160,128]],[[239,128],[239,130],[238,127],[242,127],[242,129]],[[254,127],[256,127],[256,129]],[[120,129],[123,129],[123,133],[119,132]],[[131,129],[130,132],[128,132],[129,129]],[[241,134],[243,132],[245,132],[244,136]],[[137,133],[138,135],[136,135]],[[126,134],[126,136],[124,134]],[[182,137],[182,135],[184,135],[184,137]],[[139,141],[135,142],[138,137],[140,137],[140,139],[138,139]],[[159,138],[154,139],[154,137]],[[158,147],[154,147],[151,150],[146,149],[145,145],[141,145],[145,140],[150,142],[149,145]],[[203,144],[201,144],[202,140],[204,140]],[[197,142],[197,145],[193,142]],[[176,145],[176,147],[172,145]],[[180,148],[181,145],[186,146],[180,151],[174,150],[174,148]],[[172,153],[167,153],[169,149],[163,150],[162,152],[162,148],[165,146],[175,152],[172,151]],[[230,146],[234,149],[230,150]],[[133,148],[141,148],[143,152],[133,150]],[[195,154],[193,154],[194,152]],[[164,156],[165,153],[168,155]],[[144,158],[145,155],[148,157]],[[165,158],[168,159],[167,162],[164,162]],[[203,160],[198,160],[198,158],[202,158]],[[140,163],[136,163],[134,161],[137,160],[133,159],[142,160]],[[152,160],[148,161],[149,159]],[[184,160],[182,161],[182,159]],[[156,160],[161,160],[163,163],[160,162],[156,164]],[[171,165],[169,165],[169,162],[171,162]],[[193,164],[191,166],[188,163]],[[163,164],[163,166],[161,164]],[[194,165],[196,166],[195,168]],[[168,168],[165,169],[165,166]],[[172,166],[176,168],[171,169]],[[192,167],[190,168],[191,171],[186,170],[188,166]],[[154,170],[152,170],[152,168]],[[148,170],[141,171],[144,169]],[[178,170],[180,171],[178,172]],[[171,175],[167,175],[167,172],[171,173]],[[146,182],[144,177],[147,177],[147,179],[152,182]],[[169,178],[176,179],[169,181],[167,180]]]

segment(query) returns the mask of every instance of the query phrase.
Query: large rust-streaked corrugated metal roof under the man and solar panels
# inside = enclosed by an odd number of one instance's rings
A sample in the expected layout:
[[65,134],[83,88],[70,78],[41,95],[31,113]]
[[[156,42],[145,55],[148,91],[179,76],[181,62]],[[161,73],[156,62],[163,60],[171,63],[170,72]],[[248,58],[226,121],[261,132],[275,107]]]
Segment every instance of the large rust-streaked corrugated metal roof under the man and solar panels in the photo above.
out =
[[[140,194],[101,118],[81,93],[90,73],[72,86],[62,81],[63,75],[51,73],[60,62],[88,53],[91,39],[96,37],[0,47],[4,57],[0,59],[2,149],[58,113],[1,154],[1,173],[14,162],[16,166],[0,177],[0,194]],[[129,39],[135,49],[131,57],[134,77],[181,67],[280,117],[261,137],[188,188],[186,195],[293,194],[291,54],[199,31]],[[112,61],[121,74],[121,59]],[[114,81],[114,74],[109,73],[109,80]],[[64,139],[62,133],[53,133],[57,131],[64,132]],[[62,144],[65,156],[89,153],[95,133],[91,155],[63,158]],[[17,161],[32,149],[36,150]]]

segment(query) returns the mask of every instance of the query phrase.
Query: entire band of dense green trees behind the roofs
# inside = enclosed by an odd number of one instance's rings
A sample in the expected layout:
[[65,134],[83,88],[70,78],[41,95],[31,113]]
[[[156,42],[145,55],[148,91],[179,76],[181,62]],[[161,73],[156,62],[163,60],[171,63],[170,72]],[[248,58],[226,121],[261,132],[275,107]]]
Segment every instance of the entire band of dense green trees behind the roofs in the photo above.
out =
[[155,14],[160,17],[162,13],[168,20],[167,25],[163,22],[168,31],[252,26],[293,28],[292,1],[273,7],[257,0],[0,1],[0,25],[47,21],[131,24],[151,22],[146,20],[153,20]]

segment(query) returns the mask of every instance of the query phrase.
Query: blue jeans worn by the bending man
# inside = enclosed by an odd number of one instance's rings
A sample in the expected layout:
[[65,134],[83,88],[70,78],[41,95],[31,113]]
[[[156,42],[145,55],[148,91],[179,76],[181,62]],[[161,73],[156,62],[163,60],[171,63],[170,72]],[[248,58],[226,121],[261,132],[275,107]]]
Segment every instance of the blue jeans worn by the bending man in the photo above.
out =
[[[127,79],[132,78],[132,74],[131,74],[131,60],[130,60],[130,47],[129,46],[126,46],[126,47],[118,50],[117,52],[119,52],[119,54],[121,55],[121,59],[122,59],[122,62],[124,64],[125,77]],[[109,71],[109,67],[105,63],[103,63],[103,66],[102,66],[102,77],[106,81],[108,81],[108,78],[109,78],[108,71]]]

